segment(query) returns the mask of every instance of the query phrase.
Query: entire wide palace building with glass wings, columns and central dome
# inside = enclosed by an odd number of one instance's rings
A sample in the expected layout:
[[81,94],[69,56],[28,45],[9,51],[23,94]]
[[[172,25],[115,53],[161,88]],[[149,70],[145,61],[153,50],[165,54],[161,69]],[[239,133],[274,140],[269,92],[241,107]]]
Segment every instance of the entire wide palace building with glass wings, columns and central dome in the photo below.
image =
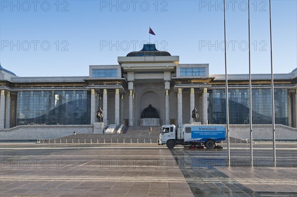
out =
[[[18,77],[1,65],[0,140],[181,126],[193,121],[194,108],[201,124],[226,123],[225,75],[210,74],[208,64],[179,64],[154,44],[117,61],[91,65],[83,77]],[[251,83],[254,137],[272,139],[271,75],[253,74]],[[228,75],[230,136],[249,136],[248,84],[248,74]],[[296,140],[297,69],[274,74],[274,99],[276,139]],[[155,114],[144,117],[149,109]]]

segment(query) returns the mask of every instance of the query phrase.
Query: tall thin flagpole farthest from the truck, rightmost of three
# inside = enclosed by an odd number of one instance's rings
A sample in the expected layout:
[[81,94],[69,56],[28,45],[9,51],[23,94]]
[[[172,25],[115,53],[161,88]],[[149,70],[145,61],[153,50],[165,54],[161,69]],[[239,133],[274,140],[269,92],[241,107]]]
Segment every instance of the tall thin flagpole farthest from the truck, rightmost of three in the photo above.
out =
[[270,16],[270,63],[271,63],[271,103],[272,103],[273,160],[276,161],[276,156],[275,156],[275,122],[274,122],[274,84],[273,84],[273,66],[272,66],[271,0],[269,0],[269,16]]

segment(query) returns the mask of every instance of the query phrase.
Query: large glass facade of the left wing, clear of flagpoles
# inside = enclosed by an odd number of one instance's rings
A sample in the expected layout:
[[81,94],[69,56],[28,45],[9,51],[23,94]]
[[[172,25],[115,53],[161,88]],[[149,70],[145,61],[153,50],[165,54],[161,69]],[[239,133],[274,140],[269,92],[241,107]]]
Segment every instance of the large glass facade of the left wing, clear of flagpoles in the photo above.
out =
[[90,124],[87,90],[20,91],[16,124]]

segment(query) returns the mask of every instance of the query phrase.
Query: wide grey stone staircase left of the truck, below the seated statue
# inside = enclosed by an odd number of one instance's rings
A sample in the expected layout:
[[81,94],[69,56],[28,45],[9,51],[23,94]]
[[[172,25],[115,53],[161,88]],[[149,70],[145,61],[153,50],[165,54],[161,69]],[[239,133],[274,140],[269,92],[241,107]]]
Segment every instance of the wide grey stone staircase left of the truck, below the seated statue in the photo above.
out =
[[[157,143],[160,128],[153,127],[151,134],[148,128],[130,126],[122,129],[121,134],[73,134],[52,139],[49,143]],[[48,143],[48,140],[46,141]]]

